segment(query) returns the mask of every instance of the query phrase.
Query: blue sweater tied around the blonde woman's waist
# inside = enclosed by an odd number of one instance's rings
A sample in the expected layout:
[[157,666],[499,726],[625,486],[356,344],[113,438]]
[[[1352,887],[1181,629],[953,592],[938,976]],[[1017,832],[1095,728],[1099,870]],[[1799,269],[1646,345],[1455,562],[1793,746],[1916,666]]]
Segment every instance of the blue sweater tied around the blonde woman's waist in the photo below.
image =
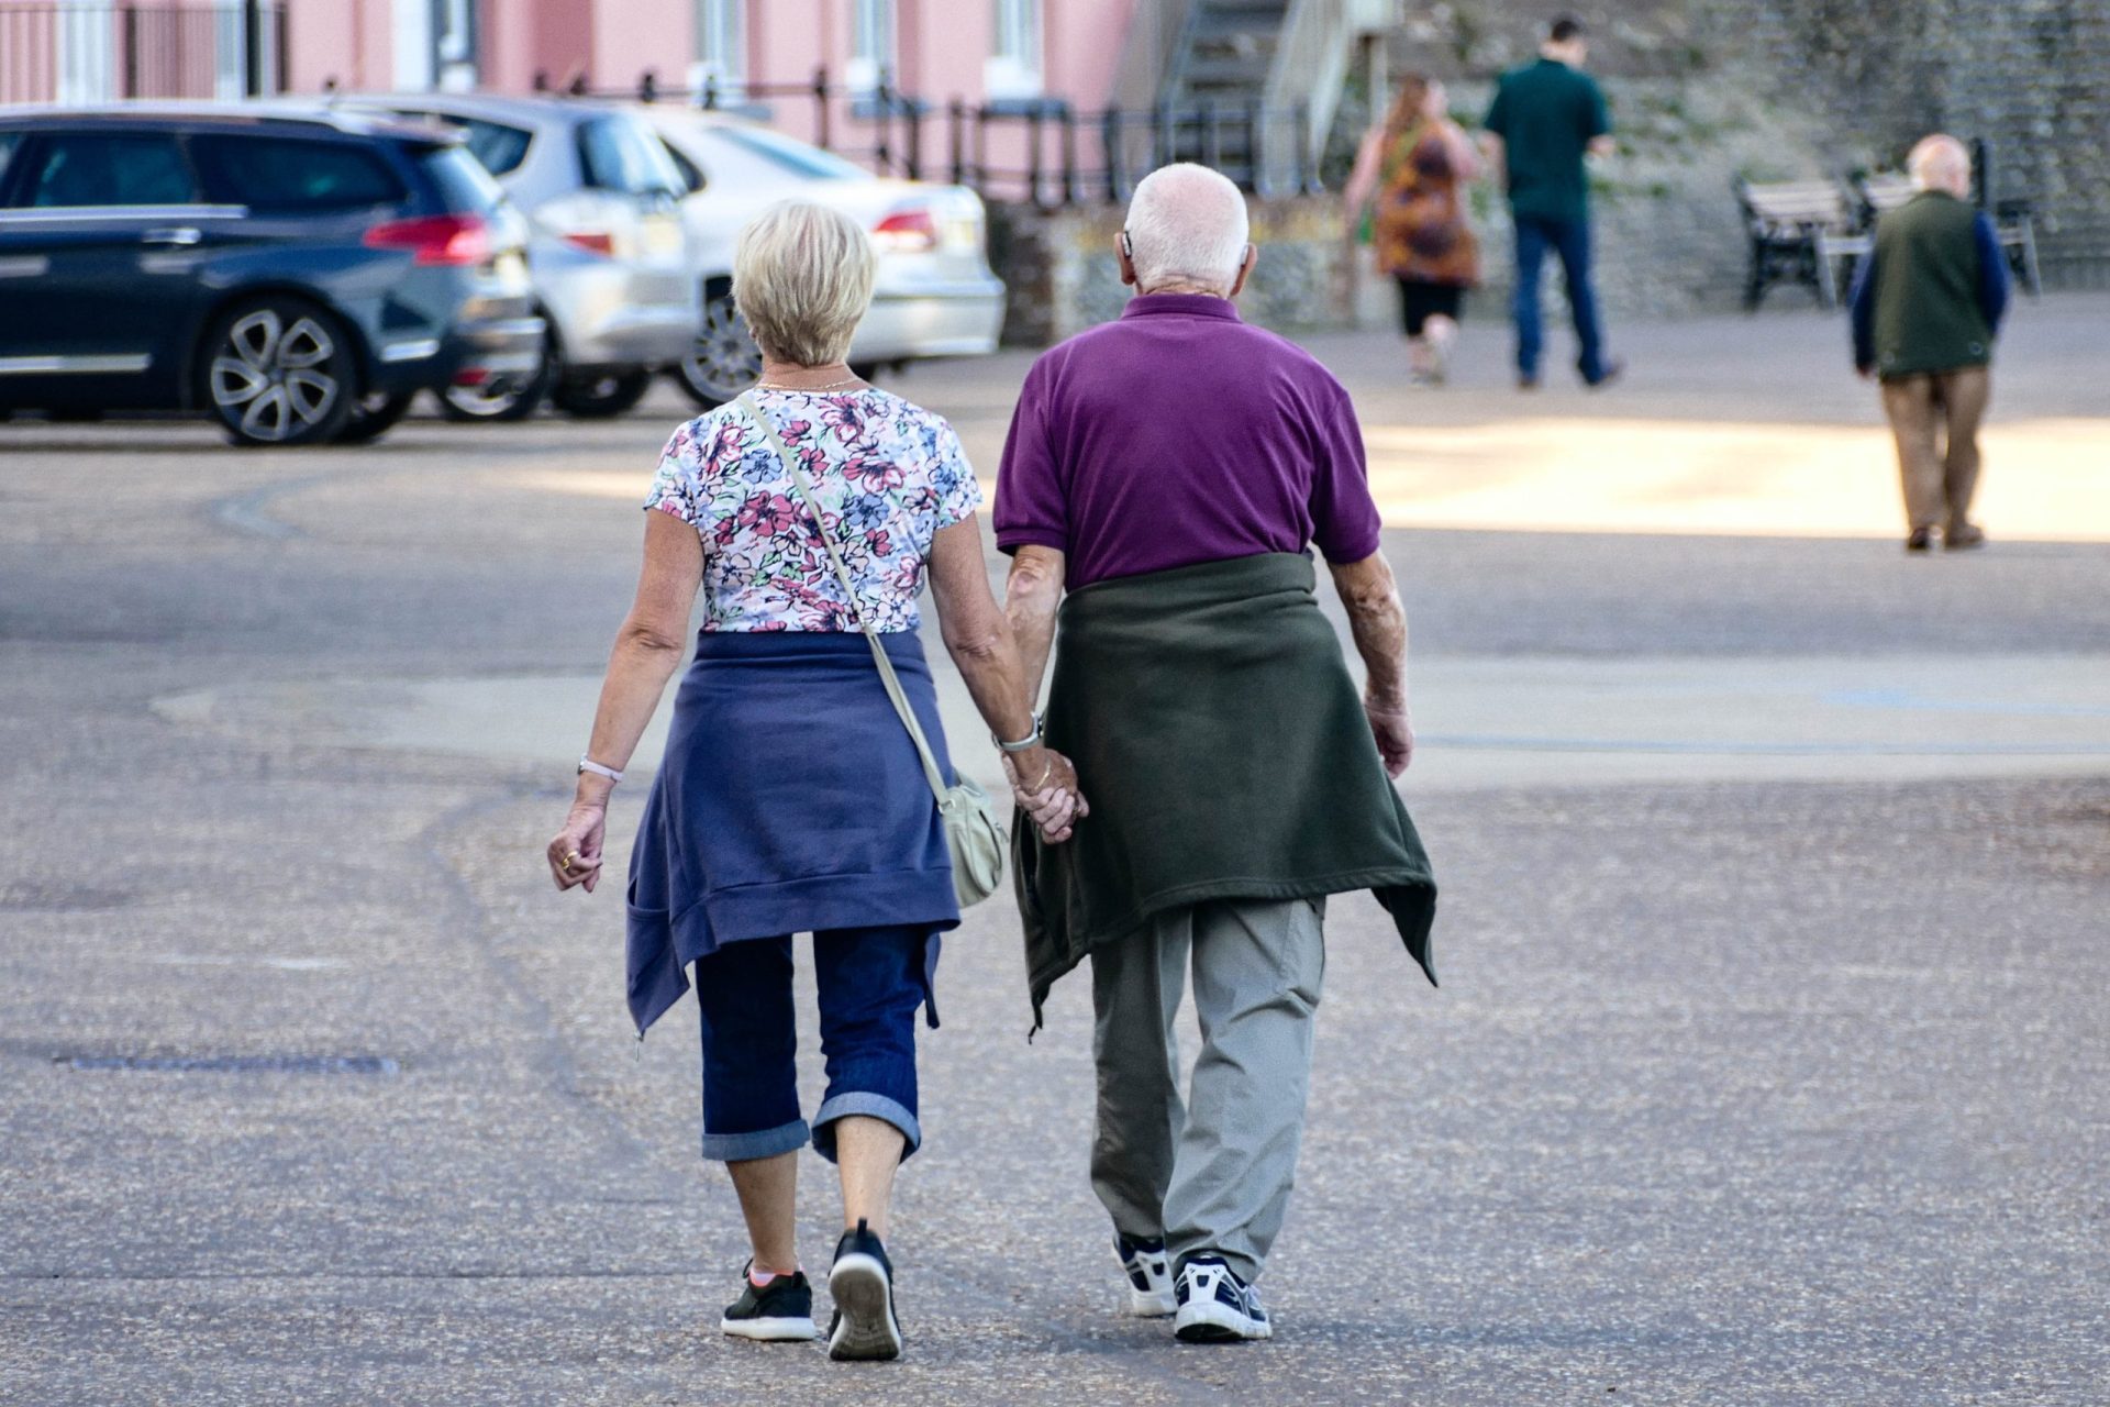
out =
[[[950,776],[922,641],[880,639]],[[688,991],[692,962],[787,932],[931,928],[928,996],[937,932],[958,922],[937,802],[863,635],[705,631],[631,852],[637,1034]]]

